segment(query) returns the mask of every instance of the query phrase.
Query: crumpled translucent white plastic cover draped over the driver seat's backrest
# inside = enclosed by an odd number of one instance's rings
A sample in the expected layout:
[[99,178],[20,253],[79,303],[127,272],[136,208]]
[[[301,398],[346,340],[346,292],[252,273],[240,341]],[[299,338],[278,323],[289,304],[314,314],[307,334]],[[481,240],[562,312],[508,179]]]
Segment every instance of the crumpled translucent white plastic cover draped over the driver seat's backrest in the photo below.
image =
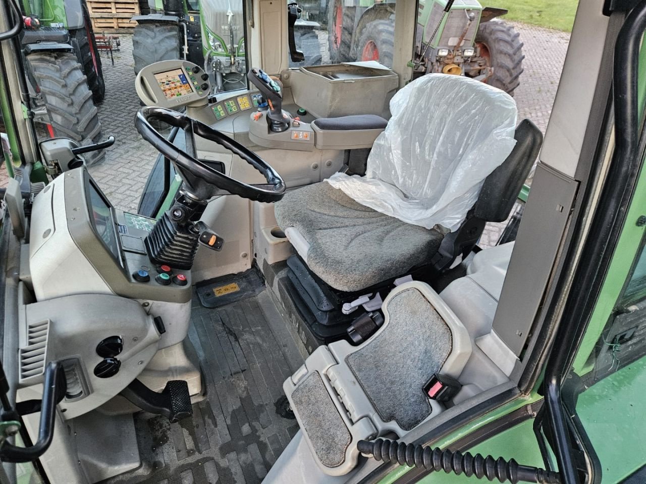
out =
[[428,74],[397,92],[390,111],[366,176],[337,173],[327,181],[406,223],[457,229],[516,144],[516,102],[468,77]]

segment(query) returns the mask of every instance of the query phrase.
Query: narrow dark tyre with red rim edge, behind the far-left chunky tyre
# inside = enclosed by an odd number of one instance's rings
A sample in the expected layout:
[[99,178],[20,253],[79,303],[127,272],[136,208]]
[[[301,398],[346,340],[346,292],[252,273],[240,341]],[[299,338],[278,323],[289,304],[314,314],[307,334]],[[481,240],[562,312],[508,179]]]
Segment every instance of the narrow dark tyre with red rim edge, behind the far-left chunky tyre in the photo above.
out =
[[72,45],[79,64],[83,67],[83,73],[87,77],[87,85],[92,91],[92,98],[95,103],[103,101],[105,97],[105,81],[103,80],[103,66],[101,66],[101,57],[96,48],[94,31],[90,23],[90,14],[83,3],[83,20],[85,26],[70,30]]

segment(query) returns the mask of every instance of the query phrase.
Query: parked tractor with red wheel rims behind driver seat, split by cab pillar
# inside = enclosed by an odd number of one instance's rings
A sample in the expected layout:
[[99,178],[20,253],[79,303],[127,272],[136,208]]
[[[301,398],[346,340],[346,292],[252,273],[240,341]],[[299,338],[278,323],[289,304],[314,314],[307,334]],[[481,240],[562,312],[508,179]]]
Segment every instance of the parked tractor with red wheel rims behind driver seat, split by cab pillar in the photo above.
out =
[[[523,72],[523,43],[507,23],[508,11],[457,0],[444,14],[446,0],[420,0],[413,67],[415,76],[431,72],[464,75],[513,96]],[[333,63],[393,63],[395,1],[334,0],[328,9],[329,54]]]

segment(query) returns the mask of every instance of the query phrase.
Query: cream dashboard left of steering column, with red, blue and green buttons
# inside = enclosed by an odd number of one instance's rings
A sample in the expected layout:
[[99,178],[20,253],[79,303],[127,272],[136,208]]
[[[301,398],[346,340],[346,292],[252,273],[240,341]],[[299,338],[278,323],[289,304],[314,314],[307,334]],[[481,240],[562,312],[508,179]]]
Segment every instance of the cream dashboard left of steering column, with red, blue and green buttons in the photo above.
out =
[[190,301],[190,271],[148,257],[144,240],[155,223],[112,207],[85,167],[57,177],[32,207],[29,267],[37,300],[98,293]]

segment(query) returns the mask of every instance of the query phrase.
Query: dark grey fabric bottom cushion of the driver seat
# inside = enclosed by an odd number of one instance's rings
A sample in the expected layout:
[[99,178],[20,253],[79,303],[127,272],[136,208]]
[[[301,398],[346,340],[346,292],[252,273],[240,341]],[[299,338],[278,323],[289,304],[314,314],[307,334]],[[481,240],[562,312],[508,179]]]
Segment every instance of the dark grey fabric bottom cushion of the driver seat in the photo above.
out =
[[307,266],[331,287],[353,292],[430,260],[444,235],[364,207],[327,182],[288,192],[278,225],[309,243]]

